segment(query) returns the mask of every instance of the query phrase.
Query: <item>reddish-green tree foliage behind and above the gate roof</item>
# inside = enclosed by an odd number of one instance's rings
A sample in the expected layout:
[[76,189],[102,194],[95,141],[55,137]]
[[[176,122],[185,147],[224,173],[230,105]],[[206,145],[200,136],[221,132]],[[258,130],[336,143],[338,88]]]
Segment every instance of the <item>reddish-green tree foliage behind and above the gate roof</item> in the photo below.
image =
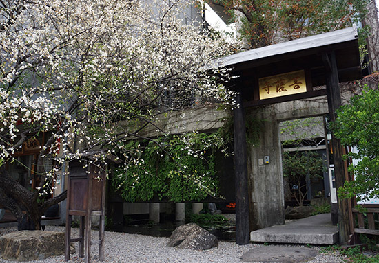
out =
[[209,0],[240,24],[249,48],[351,26],[367,12],[367,0]]

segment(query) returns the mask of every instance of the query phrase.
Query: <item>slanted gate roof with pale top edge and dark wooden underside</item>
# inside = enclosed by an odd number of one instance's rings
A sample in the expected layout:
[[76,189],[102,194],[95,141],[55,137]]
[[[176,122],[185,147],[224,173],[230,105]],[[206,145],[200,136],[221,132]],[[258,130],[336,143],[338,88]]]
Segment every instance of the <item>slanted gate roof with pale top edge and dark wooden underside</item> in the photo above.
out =
[[[318,34],[294,41],[260,47],[218,59],[218,67],[231,67],[232,75],[239,76],[230,82],[230,89],[244,93],[245,106],[269,104],[325,95],[325,89],[311,89],[307,93],[283,96],[275,99],[257,98],[258,78],[265,78],[291,71],[305,70],[310,87],[325,85],[330,52],[336,54],[339,82],[362,78],[356,27]],[[307,84],[307,86],[308,86]],[[244,103],[245,104],[245,103]]]

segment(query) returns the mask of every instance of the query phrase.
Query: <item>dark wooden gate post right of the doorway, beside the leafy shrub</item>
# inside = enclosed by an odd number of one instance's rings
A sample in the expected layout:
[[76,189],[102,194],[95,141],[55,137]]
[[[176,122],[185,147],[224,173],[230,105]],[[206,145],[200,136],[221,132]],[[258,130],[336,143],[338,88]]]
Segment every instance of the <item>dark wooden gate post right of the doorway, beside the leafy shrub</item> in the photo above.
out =
[[[341,95],[338,81],[338,69],[336,54],[331,52],[324,54],[323,60],[327,69],[327,101],[331,122],[336,120],[336,110],[341,106]],[[336,188],[342,186],[345,182],[345,165],[342,161],[342,146],[340,139],[336,139],[334,134],[331,135],[331,146],[333,148],[334,174],[336,176]],[[349,236],[352,233],[349,222],[349,201],[345,198],[338,197],[338,228],[340,244],[347,244]]]

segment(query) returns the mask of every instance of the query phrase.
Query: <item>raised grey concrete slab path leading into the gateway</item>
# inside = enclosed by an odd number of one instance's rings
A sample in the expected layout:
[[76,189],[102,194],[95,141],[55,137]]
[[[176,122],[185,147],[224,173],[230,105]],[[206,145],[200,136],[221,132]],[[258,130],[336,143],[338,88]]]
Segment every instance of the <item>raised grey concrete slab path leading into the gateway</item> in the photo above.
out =
[[274,225],[252,231],[252,242],[335,244],[338,242],[338,227],[331,225],[330,214],[318,214],[285,225]]

